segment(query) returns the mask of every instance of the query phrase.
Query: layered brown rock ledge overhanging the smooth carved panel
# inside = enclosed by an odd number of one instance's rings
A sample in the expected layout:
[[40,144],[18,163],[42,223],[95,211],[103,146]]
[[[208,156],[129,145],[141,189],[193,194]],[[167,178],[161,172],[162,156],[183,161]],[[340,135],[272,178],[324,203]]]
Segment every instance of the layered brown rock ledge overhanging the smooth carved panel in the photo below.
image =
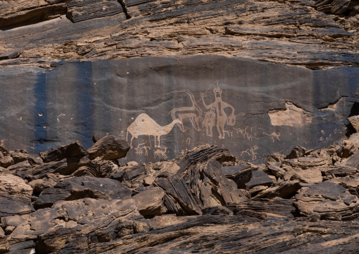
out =
[[310,69],[359,63],[357,1],[127,0],[127,15],[118,1],[104,0],[0,6],[0,67],[192,54]]

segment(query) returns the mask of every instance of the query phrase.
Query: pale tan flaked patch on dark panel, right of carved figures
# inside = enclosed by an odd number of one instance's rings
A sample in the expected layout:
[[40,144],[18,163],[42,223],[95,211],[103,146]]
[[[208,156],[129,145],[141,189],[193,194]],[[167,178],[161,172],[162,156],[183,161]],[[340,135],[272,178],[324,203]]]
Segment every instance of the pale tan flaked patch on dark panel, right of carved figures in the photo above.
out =
[[291,102],[286,102],[285,110],[269,110],[269,118],[271,125],[274,126],[290,126],[290,127],[303,127],[310,124],[313,120],[312,113]]

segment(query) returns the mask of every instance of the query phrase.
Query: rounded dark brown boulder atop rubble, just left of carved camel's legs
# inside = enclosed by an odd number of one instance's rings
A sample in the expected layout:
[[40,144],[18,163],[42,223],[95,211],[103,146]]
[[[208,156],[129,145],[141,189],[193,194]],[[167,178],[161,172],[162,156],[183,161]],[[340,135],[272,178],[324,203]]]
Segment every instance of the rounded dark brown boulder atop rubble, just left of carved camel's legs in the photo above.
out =
[[88,154],[91,159],[100,157],[104,160],[116,160],[124,158],[129,149],[130,146],[125,140],[109,135],[102,137],[102,139],[90,147]]

